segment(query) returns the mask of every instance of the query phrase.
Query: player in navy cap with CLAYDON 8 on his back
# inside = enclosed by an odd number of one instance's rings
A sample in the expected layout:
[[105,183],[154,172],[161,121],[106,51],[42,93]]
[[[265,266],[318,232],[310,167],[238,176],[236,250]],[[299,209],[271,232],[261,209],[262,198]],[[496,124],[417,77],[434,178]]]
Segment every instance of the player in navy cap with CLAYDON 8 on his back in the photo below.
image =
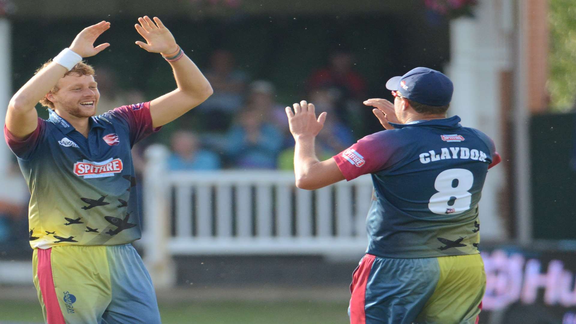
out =
[[417,67],[386,82],[394,103],[369,99],[386,130],[319,161],[314,137],[326,119],[313,104],[286,107],[296,185],[318,189],[372,174],[369,245],[350,285],[350,322],[477,323],[486,285],[478,252],[478,201],[501,157],[479,130],[446,118],[452,81]]

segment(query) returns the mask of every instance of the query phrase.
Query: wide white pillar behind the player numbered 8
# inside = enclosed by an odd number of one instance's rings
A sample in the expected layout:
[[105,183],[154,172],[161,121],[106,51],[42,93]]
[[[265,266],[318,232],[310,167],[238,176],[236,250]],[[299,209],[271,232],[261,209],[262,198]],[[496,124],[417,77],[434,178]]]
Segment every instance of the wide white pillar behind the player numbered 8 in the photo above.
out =
[[[450,21],[452,59],[446,73],[454,82],[454,95],[449,116],[458,115],[463,126],[482,130],[497,150],[503,149],[501,76],[512,69],[508,37],[513,29],[507,21],[513,17],[510,10],[502,10],[510,1],[479,1],[476,17]],[[486,177],[480,200],[482,239],[508,238],[499,206],[503,179],[501,165],[490,169]]]

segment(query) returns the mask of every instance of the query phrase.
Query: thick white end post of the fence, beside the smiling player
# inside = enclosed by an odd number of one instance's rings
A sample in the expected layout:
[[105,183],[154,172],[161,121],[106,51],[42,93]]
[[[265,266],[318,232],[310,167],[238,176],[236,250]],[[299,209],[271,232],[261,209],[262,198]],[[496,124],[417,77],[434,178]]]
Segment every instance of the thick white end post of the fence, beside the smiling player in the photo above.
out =
[[154,144],[146,149],[144,178],[144,225],[141,242],[145,247],[144,261],[154,287],[170,288],[176,283],[176,267],[168,251],[170,238],[169,188],[165,184],[168,149]]

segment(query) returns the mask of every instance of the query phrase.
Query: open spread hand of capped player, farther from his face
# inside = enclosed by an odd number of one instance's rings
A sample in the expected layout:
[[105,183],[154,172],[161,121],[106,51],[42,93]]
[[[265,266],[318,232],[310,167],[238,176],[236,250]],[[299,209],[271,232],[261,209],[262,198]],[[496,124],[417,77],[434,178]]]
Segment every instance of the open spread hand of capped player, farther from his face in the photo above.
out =
[[316,119],[316,112],[314,112],[314,104],[309,104],[305,100],[300,101],[300,104],[295,103],[294,112],[292,108],[286,107],[286,115],[288,116],[288,123],[290,125],[290,133],[297,137],[315,137],[326,120],[326,112],[323,112]]

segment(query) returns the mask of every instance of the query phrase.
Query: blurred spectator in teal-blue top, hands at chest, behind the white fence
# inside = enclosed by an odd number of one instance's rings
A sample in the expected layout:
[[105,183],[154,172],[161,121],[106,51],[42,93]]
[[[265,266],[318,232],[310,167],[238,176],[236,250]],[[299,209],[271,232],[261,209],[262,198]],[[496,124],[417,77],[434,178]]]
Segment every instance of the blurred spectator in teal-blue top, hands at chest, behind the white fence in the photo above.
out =
[[281,133],[261,110],[248,106],[226,136],[226,153],[236,168],[274,169]]

